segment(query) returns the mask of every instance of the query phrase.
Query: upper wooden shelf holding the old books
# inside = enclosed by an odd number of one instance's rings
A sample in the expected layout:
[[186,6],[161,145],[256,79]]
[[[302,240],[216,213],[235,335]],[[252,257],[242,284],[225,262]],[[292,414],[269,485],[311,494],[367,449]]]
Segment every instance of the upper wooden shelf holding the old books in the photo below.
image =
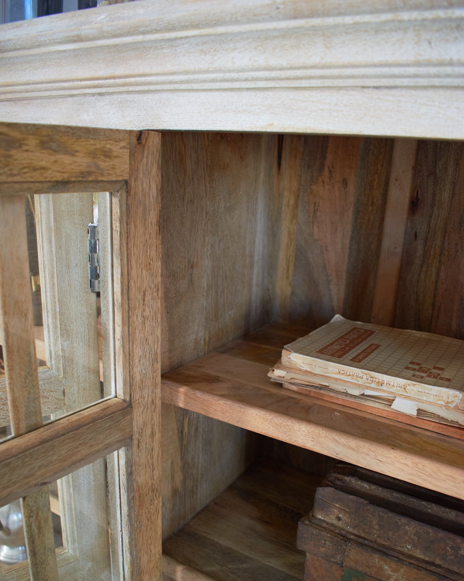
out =
[[[271,383],[282,346],[307,332],[266,325],[162,376],[165,403],[464,499],[464,430],[408,425]],[[426,429],[423,426],[429,426]],[[440,429],[445,433],[432,430]]]

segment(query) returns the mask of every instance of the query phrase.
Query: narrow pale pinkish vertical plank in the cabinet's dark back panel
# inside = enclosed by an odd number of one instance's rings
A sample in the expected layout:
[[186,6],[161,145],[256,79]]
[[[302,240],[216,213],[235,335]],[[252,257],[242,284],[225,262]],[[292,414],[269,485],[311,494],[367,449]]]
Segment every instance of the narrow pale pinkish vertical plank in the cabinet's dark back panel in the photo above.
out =
[[416,149],[415,139],[394,140],[382,245],[372,305],[371,322],[377,325],[391,327],[394,322]]

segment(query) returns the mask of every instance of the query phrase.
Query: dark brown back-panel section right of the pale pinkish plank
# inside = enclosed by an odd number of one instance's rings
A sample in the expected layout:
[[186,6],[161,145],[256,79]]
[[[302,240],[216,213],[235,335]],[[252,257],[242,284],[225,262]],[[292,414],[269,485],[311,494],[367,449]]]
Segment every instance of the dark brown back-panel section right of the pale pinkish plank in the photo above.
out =
[[394,324],[464,339],[464,146],[420,141]]

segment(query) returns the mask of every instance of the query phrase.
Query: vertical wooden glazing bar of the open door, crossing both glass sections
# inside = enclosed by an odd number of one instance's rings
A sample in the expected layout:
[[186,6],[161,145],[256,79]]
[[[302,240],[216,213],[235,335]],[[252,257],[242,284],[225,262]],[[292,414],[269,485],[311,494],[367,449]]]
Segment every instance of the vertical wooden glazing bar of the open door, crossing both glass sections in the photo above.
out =
[[[0,327],[12,433],[42,425],[24,198],[0,199]],[[48,486],[21,499],[32,581],[57,581]]]

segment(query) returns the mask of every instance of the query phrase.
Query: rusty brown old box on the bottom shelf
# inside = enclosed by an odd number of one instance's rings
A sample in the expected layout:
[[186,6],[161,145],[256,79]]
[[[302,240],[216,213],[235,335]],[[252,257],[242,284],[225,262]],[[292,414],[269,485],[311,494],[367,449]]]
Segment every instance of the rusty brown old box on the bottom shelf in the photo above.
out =
[[298,525],[304,581],[464,579],[464,503],[338,464]]

